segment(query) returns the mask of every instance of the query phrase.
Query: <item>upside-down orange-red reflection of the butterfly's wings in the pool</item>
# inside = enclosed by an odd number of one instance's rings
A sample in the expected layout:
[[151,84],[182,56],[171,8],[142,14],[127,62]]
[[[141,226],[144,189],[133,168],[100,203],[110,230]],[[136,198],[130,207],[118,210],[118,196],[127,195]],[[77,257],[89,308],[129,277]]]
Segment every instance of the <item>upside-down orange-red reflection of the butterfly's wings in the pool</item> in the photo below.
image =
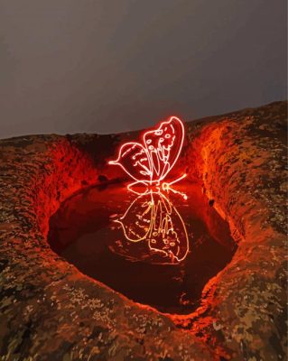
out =
[[[151,263],[178,264],[188,254],[189,238],[185,224],[177,209],[161,192],[140,195],[116,222],[123,227],[126,240],[147,242]],[[141,255],[138,257],[141,259]]]

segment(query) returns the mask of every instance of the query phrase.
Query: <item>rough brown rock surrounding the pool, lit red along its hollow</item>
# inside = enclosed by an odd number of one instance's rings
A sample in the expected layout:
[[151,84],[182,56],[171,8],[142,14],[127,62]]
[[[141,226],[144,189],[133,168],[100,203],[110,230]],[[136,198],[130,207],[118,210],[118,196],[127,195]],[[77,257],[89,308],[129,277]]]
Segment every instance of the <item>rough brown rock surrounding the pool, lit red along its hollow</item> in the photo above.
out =
[[0,359],[284,360],[287,103],[187,124],[179,167],[228,220],[237,252],[190,315],[127,300],[55,255],[48,222],[73,192],[123,175],[135,134],[0,141]]

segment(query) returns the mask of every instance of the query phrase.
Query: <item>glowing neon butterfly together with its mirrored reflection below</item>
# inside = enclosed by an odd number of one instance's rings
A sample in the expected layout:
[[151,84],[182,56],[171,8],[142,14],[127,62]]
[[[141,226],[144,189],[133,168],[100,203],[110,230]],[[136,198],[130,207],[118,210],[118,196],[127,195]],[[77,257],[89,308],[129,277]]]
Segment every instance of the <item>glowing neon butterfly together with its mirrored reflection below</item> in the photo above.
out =
[[172,116],[158,128],[145,132],[142,141],[124,143],[116,161],[109,162],[122,167],[134,180],[127,189],[138,195],[116,222],[123,227],[128,242],[147,242],[153,255],[161,255],[161,263],[178,264],[188,254],[189,239],[181,215],[164,192],[172,190],[187,199],[171,187],[186,174],[166,181],[181,154],[184,125]]

